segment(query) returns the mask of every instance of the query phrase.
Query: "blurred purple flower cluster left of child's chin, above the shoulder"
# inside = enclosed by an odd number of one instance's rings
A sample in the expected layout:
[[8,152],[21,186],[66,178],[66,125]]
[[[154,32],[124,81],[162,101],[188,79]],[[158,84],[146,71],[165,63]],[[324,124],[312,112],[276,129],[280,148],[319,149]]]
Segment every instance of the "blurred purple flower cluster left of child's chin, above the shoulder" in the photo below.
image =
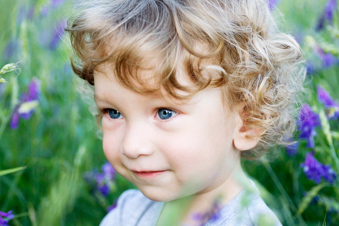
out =
[[101,171],[102,172],[98,172],[97,170],[89,171],[85,173],[84,178],[95,190],[107,196],[114,184],[116,171],[108,162],[102,165]]

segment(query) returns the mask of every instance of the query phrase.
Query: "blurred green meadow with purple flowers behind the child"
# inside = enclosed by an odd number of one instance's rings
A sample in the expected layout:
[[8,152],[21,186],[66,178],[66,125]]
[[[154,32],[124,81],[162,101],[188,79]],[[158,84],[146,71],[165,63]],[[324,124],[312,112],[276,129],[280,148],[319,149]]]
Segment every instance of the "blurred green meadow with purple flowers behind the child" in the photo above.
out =
[[[90,88],[71,69],[75,3],[0,0],[0,226],[99,225],[135,188],[106,164]],[[307,59],[298,143],[242,166],[283,225],[339,225],[337,0],[271,6]]]

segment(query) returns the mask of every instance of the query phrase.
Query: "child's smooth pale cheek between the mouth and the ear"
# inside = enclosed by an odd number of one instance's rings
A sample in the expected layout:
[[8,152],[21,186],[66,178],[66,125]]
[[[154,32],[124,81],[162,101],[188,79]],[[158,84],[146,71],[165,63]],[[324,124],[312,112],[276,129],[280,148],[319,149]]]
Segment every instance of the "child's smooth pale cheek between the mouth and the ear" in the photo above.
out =
[[[205,176],[211,170],[225,165],[225,159],[231,157],[232,138],[229,126],[225,127],[218,114],[201,118],[204,123],[191,123],[175,134],[168,144],[173,168],[183,176],[201,174]],[[190,175],[189,175],[190,174]]]

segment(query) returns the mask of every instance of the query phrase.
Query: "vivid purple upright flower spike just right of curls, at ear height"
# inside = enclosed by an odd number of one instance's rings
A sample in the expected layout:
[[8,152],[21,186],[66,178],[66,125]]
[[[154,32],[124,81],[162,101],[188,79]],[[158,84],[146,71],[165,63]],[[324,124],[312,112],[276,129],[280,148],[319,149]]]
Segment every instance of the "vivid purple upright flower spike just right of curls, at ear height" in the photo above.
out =
[[299,137],[307,139],[307,148],[315,146],[316,126],[320,126],[319,116],[312,111],[307,103],[304,103],[299,113],[298,129],[301,130]]

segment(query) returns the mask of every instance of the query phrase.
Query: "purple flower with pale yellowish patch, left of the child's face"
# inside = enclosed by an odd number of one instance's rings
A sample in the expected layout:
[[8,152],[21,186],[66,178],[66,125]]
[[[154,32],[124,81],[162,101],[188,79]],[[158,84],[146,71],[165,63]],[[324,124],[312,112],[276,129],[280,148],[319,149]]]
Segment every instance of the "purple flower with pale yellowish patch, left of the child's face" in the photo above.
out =
[[35,108],[38,105],[40,95],[40,80],[34,78],[28,85],[27,92],[22,93],[19,103],[15,106],[12,113],[10,126],[12,129],[17,129],[19,125],[19,118],[25,120],[31,118]]

